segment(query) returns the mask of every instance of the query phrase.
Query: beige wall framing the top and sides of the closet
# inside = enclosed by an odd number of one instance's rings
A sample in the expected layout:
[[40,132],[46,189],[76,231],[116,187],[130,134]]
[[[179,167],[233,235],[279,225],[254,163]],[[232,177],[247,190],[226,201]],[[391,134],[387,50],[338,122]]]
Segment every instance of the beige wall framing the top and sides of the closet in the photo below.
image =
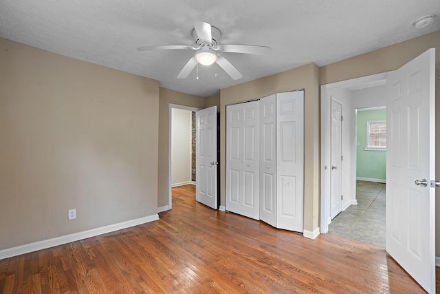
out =
[[259,78],[220,91],[221,205],[225,205],[225,109],[226,105],[250,101],[274,93],[305,90],[305,200],[304,229],[319,227],[319,70],[310,63],[273,76]]

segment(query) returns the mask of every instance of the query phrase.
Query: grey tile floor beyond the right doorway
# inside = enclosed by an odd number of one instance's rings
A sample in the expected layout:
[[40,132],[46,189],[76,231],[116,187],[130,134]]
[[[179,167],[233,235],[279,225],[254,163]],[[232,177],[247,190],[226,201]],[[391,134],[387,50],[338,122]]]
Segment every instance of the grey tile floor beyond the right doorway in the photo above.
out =
[[333,218],[329,232],[385,248],[385,184],[356,182],[357,205]]

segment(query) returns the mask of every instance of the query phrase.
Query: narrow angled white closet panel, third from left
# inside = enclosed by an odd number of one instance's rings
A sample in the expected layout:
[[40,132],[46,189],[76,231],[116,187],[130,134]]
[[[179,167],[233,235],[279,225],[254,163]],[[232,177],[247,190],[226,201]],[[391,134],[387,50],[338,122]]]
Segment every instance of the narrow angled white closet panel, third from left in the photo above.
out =
[[276,96],[260,100],[260,220],[276,227]]

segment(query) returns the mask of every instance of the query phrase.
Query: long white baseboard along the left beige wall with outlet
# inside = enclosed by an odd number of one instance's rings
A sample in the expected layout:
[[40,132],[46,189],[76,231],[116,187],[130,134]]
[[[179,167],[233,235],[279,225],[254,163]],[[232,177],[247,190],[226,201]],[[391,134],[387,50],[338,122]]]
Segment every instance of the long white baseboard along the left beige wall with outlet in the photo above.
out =
[[155,220],[159,220],[159,216],[157,215],[157,213],[153,214],[152,216],[146,216],[144,218],[137,218],[135,220],[128,220],[126,222],[120,222],[118,224],[110,224],[109,226],[73,233],[70,235],[63,235],[61,237],[56,237],[49,240],[43,240],[43,241],[24,244],[8,249],[2,249],[0,250],[0,260],[3,260],[5,258],[12,258],[12,256],[17,256],[42,249],[47,249],[50,247],[66,244],[69,242],[91,238],[96,235],[102,235],[104,233],[110,233],[113,231],[118,231],[129,227],[134,227],[139,224],[145,224],[146,222],[153,222]]

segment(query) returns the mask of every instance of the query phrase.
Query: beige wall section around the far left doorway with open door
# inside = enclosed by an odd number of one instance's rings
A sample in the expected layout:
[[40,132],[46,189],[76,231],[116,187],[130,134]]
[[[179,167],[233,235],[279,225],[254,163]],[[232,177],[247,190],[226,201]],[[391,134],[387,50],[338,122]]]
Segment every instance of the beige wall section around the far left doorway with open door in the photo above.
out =
[[189,107],[205,108],[206,98],[195,95],[184,94],[159,89],[159,167],[157,169],[159,182],[157,186],[157,207],[165,207],[169,202],[169,173],[168,173],[168,152],[169,152],[169,105],[178,104]]

